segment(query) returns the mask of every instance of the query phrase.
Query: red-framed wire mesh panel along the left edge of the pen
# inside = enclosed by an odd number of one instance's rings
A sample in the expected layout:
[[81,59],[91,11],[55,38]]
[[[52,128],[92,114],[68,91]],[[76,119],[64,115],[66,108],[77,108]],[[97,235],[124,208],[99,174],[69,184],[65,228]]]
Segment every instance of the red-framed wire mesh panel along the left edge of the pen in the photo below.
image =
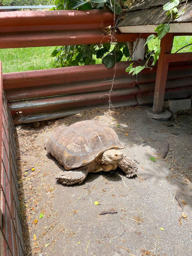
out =
[[[2,87],[0,61],[0,182],[3,214],[0,223],[1,251],[4,256],[23,256],[23,237],[19,218],[16,145],[13,119]],[[3,248],[2,248],[3,246]]]

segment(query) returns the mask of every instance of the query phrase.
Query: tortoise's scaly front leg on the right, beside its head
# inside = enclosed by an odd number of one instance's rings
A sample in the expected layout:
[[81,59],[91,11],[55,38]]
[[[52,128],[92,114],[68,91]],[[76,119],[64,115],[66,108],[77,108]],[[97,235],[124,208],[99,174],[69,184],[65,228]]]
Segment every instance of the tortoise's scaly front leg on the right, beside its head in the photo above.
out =
[[118,166],[125,172],[127,178],[133,177],[138,171],[135,161],[123,155],[123,159],[118,163]]

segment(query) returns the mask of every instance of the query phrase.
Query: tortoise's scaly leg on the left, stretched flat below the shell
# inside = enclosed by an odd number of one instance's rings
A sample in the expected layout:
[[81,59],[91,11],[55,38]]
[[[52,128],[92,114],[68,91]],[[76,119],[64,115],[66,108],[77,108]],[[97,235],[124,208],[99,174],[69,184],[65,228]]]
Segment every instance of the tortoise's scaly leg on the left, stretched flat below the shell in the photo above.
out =
[[88,174],[87,169],[77,169],[72,171],[60,172],[56,179],[65,185],[72,185],[75,183],[81,184]]

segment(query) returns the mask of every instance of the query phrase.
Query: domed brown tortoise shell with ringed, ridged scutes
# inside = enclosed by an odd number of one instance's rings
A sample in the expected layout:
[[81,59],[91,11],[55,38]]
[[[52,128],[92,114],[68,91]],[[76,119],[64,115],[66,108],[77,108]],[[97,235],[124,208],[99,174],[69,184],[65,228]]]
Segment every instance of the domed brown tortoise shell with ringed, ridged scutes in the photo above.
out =
[[60,127],[45,144],[47,152],[66,170],[87,165],[106,150],[124,147],[111,127],[95,120]]

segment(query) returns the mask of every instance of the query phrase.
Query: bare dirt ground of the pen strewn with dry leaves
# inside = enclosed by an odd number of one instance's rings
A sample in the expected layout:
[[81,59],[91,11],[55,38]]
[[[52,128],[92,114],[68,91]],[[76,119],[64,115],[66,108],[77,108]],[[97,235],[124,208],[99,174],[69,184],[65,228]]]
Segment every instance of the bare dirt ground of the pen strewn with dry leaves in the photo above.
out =
[[[16,127],[26,255],[192,255],[192,111],[163,123],[148,118],[149,107],[95,109]],[[117,169],[89,173],[80,185],[56,182],[62,166],[44,141],[60,125],[88,119],[116,131],[122,152],[138,161],[135,177]],[[99,215],[110,209],[118,213]]]

